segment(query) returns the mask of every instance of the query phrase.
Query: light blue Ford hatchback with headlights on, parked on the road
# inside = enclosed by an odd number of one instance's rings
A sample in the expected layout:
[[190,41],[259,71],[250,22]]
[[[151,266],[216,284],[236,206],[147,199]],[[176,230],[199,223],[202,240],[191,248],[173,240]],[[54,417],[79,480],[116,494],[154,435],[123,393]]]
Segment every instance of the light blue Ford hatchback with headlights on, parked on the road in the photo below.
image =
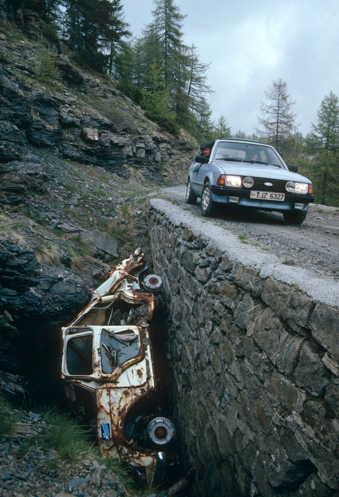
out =
[[189,167],[187,204],[200,197],[203,216],[228,204],[278,211],[289,224],[305,220],[315,198],[311,181],[297,174],[298,166],[288,168],[273,147],[254,140],[225,138],[209,145],[209,157],[197,155]]

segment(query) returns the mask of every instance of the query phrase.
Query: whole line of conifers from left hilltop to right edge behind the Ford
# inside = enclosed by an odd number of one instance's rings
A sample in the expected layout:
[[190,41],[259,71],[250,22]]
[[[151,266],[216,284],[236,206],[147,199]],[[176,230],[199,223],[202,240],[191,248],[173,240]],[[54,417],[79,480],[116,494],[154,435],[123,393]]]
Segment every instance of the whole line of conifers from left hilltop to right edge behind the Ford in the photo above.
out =
[[[252,135],[231,131],[220,115],[214,122],[207,100],[208,63],[199,60],[198,48],[183,41],[185,16],[174,0],[154,0],[153,20],[140,37],[133,37],[124,20],[121,0],[4,0],[14,17],[17,9],[36,11],[50,46],[63,40],[72,59],[83,68],[107,74],[118,89],[145,110],[162,129],[178,134],[185,128],[197,141],[224,136],[260,139],[272,144],[285,161],[297,163],[314,182],[316,202],[339,205],[338,97],[324,97],[319,122],[303,137],[298,132],[287,82],[274,80],[261,103],[259,127]],[[53,54],[45,52],[40,79],[55,77]],[[337,102],[337,103],[336,103]]]

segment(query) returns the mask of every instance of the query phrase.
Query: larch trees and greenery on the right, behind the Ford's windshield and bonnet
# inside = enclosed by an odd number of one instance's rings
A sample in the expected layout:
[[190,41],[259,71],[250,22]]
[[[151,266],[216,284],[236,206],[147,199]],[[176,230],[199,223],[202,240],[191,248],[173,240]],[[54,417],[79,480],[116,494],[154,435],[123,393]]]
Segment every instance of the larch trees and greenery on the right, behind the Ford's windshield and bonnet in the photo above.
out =
[[[261,104],[258,117],[260,139],[273,145],[285,162],[296,162],[299,172],[310,178],[316,203],[339,206],[339,100],[332,91],[318,109],[318,121],[304,138],[297,131],[296,101],[288,94],[287,83],[273,81],[265,92],[268,103]],[[250,137],[248,137],[250,138]]]

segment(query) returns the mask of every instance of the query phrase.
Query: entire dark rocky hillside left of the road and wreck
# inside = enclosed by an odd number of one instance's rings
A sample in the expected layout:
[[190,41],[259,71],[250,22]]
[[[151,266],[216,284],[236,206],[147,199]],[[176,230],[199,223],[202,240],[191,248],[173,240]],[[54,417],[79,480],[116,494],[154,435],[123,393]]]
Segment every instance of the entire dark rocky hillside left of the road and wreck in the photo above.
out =
[[0,369],[41,373],[58,347],[46,336],[120,253],[147,251],[147,193],[182,177],[196,143],[162,132],[63,43],[47,50],[33,12],[16,14],[22,30],[0,17]]

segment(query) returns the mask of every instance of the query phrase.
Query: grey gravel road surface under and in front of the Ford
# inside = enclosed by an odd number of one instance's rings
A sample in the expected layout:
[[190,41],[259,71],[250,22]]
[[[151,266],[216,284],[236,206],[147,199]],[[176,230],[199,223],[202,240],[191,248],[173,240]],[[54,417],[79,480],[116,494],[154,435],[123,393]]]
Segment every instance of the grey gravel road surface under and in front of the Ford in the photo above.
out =
[[[164,188],[161,195],[200,217],[199,200],[195,206],[185,203],[186,187]],[[339,209],[310,204],[306,220],[300,226],[285,224],[282,214],[264,211],[220,209],[216,226],[279,257],[287,265],[312,269],[339,280]]]

